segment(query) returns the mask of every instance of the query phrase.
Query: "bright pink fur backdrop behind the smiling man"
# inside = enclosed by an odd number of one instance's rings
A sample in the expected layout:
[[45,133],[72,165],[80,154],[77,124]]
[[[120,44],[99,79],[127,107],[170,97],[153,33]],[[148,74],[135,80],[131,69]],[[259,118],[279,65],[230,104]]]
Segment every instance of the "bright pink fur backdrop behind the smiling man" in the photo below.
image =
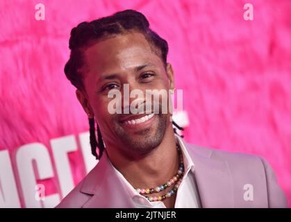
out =
[[[44,20],[35,19],[37,3]],[[245,3],[253,20],[244,20]],[[58,194],[51,139],[89,128],[63,73],[71,29],[128,8],[143,12],[169,43],[189,119],[185,140],[265,157],[291,206],[291,1],[0,1],[0,153],[9,153],[21,207],[19,147],[47,148],[55,173],[38,182],[46,195]],[[86,173],[79,144],[68,160],[76,185]],[[0,162],[2,173],[6,167]]]

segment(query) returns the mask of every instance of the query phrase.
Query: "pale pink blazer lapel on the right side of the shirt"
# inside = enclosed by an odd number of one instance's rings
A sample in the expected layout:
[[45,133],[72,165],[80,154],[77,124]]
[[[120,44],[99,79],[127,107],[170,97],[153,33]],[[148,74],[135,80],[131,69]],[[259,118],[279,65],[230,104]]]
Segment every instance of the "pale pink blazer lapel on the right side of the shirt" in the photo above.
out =
[[212,151],[186,144],[194,162],[201,207],[234,207],[233,182],[227,162],[213,160]]

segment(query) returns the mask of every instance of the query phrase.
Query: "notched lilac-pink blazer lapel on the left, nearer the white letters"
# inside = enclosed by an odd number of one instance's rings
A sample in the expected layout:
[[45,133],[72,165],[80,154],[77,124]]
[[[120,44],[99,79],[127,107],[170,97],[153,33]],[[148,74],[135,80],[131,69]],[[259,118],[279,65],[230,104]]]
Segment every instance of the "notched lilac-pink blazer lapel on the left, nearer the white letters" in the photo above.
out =
[[100,162],[88,174],[81,187],[81,192],[92,195],[84,205],[84,208],[114,208],[135,207],[122,182],[108,162],[104,153]]

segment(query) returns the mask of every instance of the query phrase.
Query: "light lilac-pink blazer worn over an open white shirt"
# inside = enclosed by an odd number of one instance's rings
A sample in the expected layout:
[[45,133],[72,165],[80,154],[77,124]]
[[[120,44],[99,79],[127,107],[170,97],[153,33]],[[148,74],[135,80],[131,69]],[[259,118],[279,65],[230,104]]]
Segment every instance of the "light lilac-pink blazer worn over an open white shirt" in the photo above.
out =
[[[261,157],[185,146],[194,162],[201,207],[287,207],[274,171]],[[105,155],[57,207],[135,207]],[[253,200],[244,199],[247,184]]]

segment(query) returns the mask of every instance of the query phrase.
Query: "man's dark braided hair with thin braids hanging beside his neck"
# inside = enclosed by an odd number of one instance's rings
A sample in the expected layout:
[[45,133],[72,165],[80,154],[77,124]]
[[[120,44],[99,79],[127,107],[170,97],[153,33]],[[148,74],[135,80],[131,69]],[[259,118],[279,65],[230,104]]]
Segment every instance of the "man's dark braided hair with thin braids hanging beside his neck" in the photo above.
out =
[[[83,55],[85,49],[88,49],[88,47],[98,41],[106,40],[106,38],[112,37],[113,35],[126,34],[130,31],[142,33],[151,45],[151,50],[160,56],[163,60],[163,65],[167,67],[167,41],[149,28],[149,22],[141,12],[123,10],[108,17],[93,20],[92,22],[81,22],[78,26],[72,28],[71,37],[69,38],[69,49],[71,53],[64,69],[65,75],[72,85],[85,92],[83,85],[83,75],[87,68]],[[173,124],[178,129],[183,130],[176,123],[173,122]],[[105,146],[98,125],[97,142],[94,118],[89,118],[89,126],[92,155],[98,160],[101,158]],[[174,131],[176,133],[176,129]],[[99,148],[99,154],[96,151],[97,147]]]

